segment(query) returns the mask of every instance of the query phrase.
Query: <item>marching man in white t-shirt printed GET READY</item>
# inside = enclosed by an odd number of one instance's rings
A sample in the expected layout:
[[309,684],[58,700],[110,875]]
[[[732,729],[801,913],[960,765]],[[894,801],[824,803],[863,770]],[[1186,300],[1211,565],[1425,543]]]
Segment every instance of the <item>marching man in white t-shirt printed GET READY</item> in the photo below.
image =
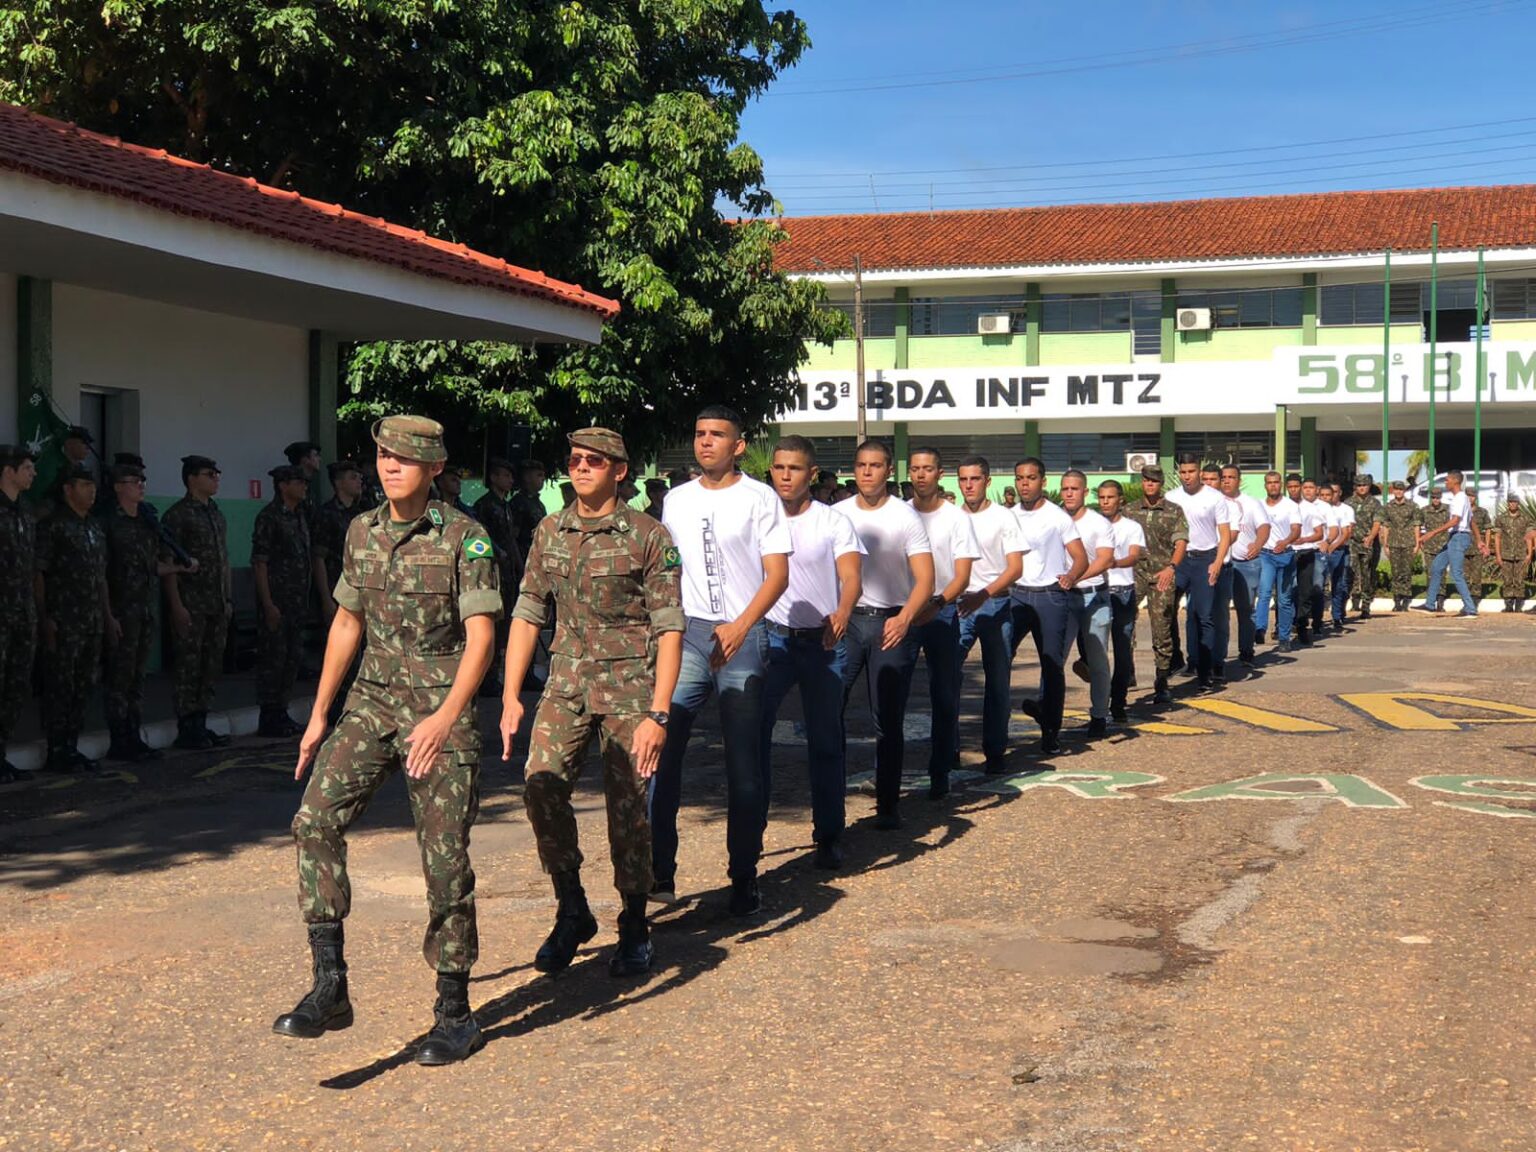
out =
[[719,697],[725,743],[725,843],[731,915],[762,908],[757,860],[763,849],[762,713],[768,630],[763,617],[790,585],[790,525],[779,496],[737,472],[746,452],[742,418],[711,404],[693,425],[703,475],[667,493],[662,524],[682,561],[682,673],[673,691],[667,743],[651,779],[654,892],[676,895],[677,808],[682,757],[693,720]]

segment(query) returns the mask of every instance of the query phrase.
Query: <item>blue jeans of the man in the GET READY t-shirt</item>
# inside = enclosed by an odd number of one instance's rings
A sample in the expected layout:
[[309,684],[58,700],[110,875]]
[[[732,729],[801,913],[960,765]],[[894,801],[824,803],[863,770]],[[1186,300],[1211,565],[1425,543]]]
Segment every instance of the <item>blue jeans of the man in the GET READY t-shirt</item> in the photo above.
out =
[[656,776],[651,777],[651,866],[656,880],[677,876],[677,809],[682,806],[682,757],[694,717],[710,696],[719,699],[720,736],[725,742],[725,851],[733,880],[757,876],[763,854],[762,720],[768,630],[759,622],[740,651],[720,670],[710,668],[714,628],[719,621],[688,621],[684,633],[682,671],[673,690]]

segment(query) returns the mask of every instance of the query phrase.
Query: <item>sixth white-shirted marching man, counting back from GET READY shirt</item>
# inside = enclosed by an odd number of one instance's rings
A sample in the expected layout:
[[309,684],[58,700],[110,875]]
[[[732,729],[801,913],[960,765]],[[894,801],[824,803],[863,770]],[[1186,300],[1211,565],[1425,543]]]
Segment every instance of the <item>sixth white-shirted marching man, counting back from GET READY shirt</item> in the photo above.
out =
[[1066,703],[1066,630],[1078,579],[1087,571],[1087,553],[1077,525],[1060,505],[1046,499],[1046,465],[1026,456],[1014,465],[1018,535],[1025,565],[1014,585],[1014,648],[1025,636],[1040,657],[1040,693],[1018,708],[1040,725],[1040,751],[1061,751],[1061,708]]

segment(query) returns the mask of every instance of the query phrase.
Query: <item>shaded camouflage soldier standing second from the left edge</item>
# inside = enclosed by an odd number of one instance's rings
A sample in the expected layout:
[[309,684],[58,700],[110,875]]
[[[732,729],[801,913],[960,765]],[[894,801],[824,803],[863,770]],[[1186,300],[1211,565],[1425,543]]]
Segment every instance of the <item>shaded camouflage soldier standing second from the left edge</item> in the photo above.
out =
[[51,773],[95,771],[75,743],[101,671],[101,636],[115,631],[106,602],[106,533],[91,516],[95,476],[63,475],[60,505],[37,536],[37,601],[43,641],[43,720]]

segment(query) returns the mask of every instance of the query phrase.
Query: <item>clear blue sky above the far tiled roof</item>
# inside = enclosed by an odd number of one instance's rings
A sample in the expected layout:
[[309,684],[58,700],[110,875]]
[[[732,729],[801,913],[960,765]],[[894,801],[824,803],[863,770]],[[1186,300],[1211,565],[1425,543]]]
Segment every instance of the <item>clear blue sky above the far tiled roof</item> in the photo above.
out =
[[742,123],[788,215],[1536,181],[1533,0],[794,8]]

